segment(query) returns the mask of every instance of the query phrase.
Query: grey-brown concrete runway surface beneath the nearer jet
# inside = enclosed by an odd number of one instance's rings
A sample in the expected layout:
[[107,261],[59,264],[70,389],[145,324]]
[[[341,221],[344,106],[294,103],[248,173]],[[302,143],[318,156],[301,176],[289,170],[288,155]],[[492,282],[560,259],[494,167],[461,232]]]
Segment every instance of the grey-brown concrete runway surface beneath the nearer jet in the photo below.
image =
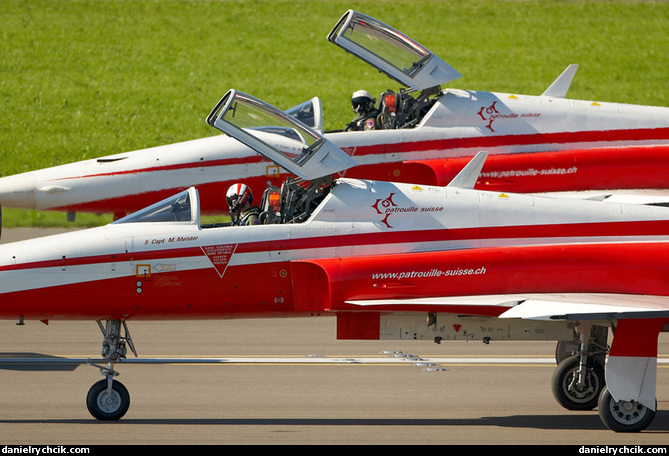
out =
[[[5,230],[2,242],[51,231]],[[553,342],[338,341],[334,318],[130,322],[142,358],[117,365],[131,405],[119,422],[86,409],[95,367],[0,369],[0,444],[661,445],[669,442],[669,334],[658,412],[616,434],[596,410],[560,407]],[[0,353],[98,357],[94,322],[0,321]],[[433,360],[426,366],[420,360]]]

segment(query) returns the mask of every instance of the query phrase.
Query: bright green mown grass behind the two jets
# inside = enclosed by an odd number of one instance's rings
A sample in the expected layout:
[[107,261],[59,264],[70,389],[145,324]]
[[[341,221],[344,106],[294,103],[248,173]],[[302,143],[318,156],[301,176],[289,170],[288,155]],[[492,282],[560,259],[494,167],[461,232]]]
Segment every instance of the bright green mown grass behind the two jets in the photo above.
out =
[[204,119],[230,88],[279,108],[318,96],[341,128],[353,91],[398,88],[327,42],[347,9],[449,62],[449,87],[538,95],[578,63],[570,98],[669,106],[667,2],[0,0],[0,175],[217,134]]

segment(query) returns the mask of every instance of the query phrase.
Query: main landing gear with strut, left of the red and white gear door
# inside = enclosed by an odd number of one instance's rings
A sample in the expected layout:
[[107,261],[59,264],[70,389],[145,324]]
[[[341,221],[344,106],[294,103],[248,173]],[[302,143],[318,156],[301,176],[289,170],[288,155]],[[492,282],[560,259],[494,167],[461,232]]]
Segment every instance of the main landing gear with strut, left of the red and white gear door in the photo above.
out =
[[604,359],[606,356],[607,329],[601,326],[580,324],[576,350],[565,356],[566,350],[558,345],[558,368],[551,382],[553,396],[567,410],[592,410],[597,407],[599,395],[606,384]]

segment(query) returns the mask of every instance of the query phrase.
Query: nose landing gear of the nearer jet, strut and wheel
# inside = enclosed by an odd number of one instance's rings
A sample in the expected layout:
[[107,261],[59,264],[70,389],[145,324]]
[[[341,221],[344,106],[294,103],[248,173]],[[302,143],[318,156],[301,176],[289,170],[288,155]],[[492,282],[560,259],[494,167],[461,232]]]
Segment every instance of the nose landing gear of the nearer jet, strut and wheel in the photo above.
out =
[[[98,367],[100,373],[106,378],[95,383],[88,391],[86,406],[94,418],[115,421],[121,419],[128,411],[130,395],[121,382],[114,381],[114,377],[119,375],[114,370],[114,364],[126,357],[128,352],[126,343],[135,356],[137,356],[137,352],[135,351],[125,321],[110,320],[107,321],[106,325],[98,321],[98,326],[104,336],[104,341],[102,342],[103,359],[91,360],[90,364]],[[121,334],[121,329],[123,329],[123,335]],[[95,361],[106,362],[107,366],[98,366],[94,363]]]

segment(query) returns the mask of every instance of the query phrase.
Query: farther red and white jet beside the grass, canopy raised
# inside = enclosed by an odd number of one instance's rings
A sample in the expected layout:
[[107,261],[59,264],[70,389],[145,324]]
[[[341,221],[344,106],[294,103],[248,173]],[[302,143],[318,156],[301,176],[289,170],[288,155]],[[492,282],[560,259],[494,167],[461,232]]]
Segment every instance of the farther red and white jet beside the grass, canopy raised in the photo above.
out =
[[[324,134],[355,158],[347,177],[443,186],[484,149],[489,157],[478,189],[594,191],[587,196],[598,198],[643,190],[643,201],[667,200],[669,108],[567,99],[576,65],[539,96],[442,89],[460,73],[355,11],[344,14],[328,40],[401,85],[380,94],[373,113],[361,114],[372,129]],[[288,112],[322,131],[318,98]],[[227,211],[231,184],[243,181],[259,195],[288,175],[253,149],[217,136],[2,177],[0,205],[120,218],[194,186],[201,212],[218,214]]]

